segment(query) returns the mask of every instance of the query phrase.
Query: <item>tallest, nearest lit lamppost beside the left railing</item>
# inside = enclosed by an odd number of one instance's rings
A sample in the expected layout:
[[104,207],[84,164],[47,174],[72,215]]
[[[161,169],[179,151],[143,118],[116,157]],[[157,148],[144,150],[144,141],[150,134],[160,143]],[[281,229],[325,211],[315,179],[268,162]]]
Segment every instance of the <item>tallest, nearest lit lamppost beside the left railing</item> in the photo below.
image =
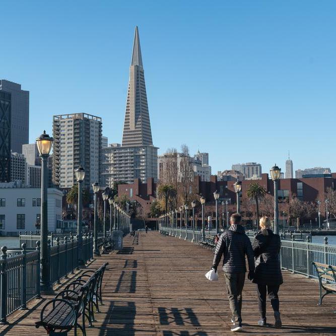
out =
[[43,131],[36,139],[38,152],[42,161],[41,169],[41,292],[52,292],[50,286],[50,264],[48,258],[48,157],[53,139]]

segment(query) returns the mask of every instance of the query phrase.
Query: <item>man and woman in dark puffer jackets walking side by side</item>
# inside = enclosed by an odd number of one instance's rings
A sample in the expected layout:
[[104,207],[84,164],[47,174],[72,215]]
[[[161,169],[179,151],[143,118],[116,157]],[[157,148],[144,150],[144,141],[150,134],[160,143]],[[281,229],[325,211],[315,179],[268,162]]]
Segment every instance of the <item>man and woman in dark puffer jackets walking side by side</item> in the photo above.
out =
[[229,229],[224,231],[218,240],[212,268],[217,271],[223,255],[223,271],[232,311],[231,330],[242,329],[241,305],[246,273],[245,255],[249,269],[247,278],[256,284],[258,294],[260,313],[258,325],[266,325],[266,293],[268,293],[274,310],[275,327],[280,328],[282,323],[278,291],[283,283],[279,260],[280,236],[270,229],[268,217],[260,219],[260,231],[255,236],[253,244],[241,225],[240,214],[233,214],[230,224]]

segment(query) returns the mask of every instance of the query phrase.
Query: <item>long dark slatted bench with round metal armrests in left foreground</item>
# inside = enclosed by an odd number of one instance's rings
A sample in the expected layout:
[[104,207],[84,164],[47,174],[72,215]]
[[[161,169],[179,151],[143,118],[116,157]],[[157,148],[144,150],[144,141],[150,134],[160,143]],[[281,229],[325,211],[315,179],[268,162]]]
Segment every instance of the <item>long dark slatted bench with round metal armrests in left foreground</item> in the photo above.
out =
[[[95,321],[93,307],[99,312],[98,300],[102,303],[101,285],[108,262],[98,270],[87,270],[72,283],[65,286],[54,299],[48,301],[42,308],[40,321],[35,323],[36,328],[43,326],[50,335],[68,334],[74,328],[75,336],[79,327],[86,336],[85,317],[92,326]],[[82,325],[78,319],[82,316]]]

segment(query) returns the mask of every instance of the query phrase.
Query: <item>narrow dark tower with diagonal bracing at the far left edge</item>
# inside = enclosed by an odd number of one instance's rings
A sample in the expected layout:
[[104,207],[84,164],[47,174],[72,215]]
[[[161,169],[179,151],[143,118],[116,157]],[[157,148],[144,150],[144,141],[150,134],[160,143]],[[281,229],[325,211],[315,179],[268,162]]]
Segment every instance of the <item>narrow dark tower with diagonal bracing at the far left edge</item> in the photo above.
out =
[[0,91],[0,182],[11,181],[12,95]]

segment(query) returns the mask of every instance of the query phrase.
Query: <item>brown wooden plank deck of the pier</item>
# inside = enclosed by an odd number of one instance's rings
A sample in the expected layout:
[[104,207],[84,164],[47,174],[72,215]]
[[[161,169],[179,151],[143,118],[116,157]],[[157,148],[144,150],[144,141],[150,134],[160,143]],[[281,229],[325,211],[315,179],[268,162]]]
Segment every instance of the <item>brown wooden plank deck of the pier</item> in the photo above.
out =
[[[220,281],[211,283],[204,276],[212,257],[209,250],[158,232],[140,232],[135,238],[124,238],[123,251],[104,254],[90,266],[97,268],[109,262],[103,283],[104,305],[101,313],[96,314],[94,327],[87,328],[88,336],[230,334],[231,313],[224,277],[220,274]],[[253,335],[336,333],[336,295],[328,295],[322,306],[318,306],[316,281],[284,272],[279,296],[283,328],[258,327],[255,285],[246,280],[243,332]],[[34,326],[45,300],[30,302],[29,307],[34,310],[10,315],[9,324],[0,327],[0,334],[46,334],[44,329]],[[273,321],[271,309],[268,304],[269,322]]]

